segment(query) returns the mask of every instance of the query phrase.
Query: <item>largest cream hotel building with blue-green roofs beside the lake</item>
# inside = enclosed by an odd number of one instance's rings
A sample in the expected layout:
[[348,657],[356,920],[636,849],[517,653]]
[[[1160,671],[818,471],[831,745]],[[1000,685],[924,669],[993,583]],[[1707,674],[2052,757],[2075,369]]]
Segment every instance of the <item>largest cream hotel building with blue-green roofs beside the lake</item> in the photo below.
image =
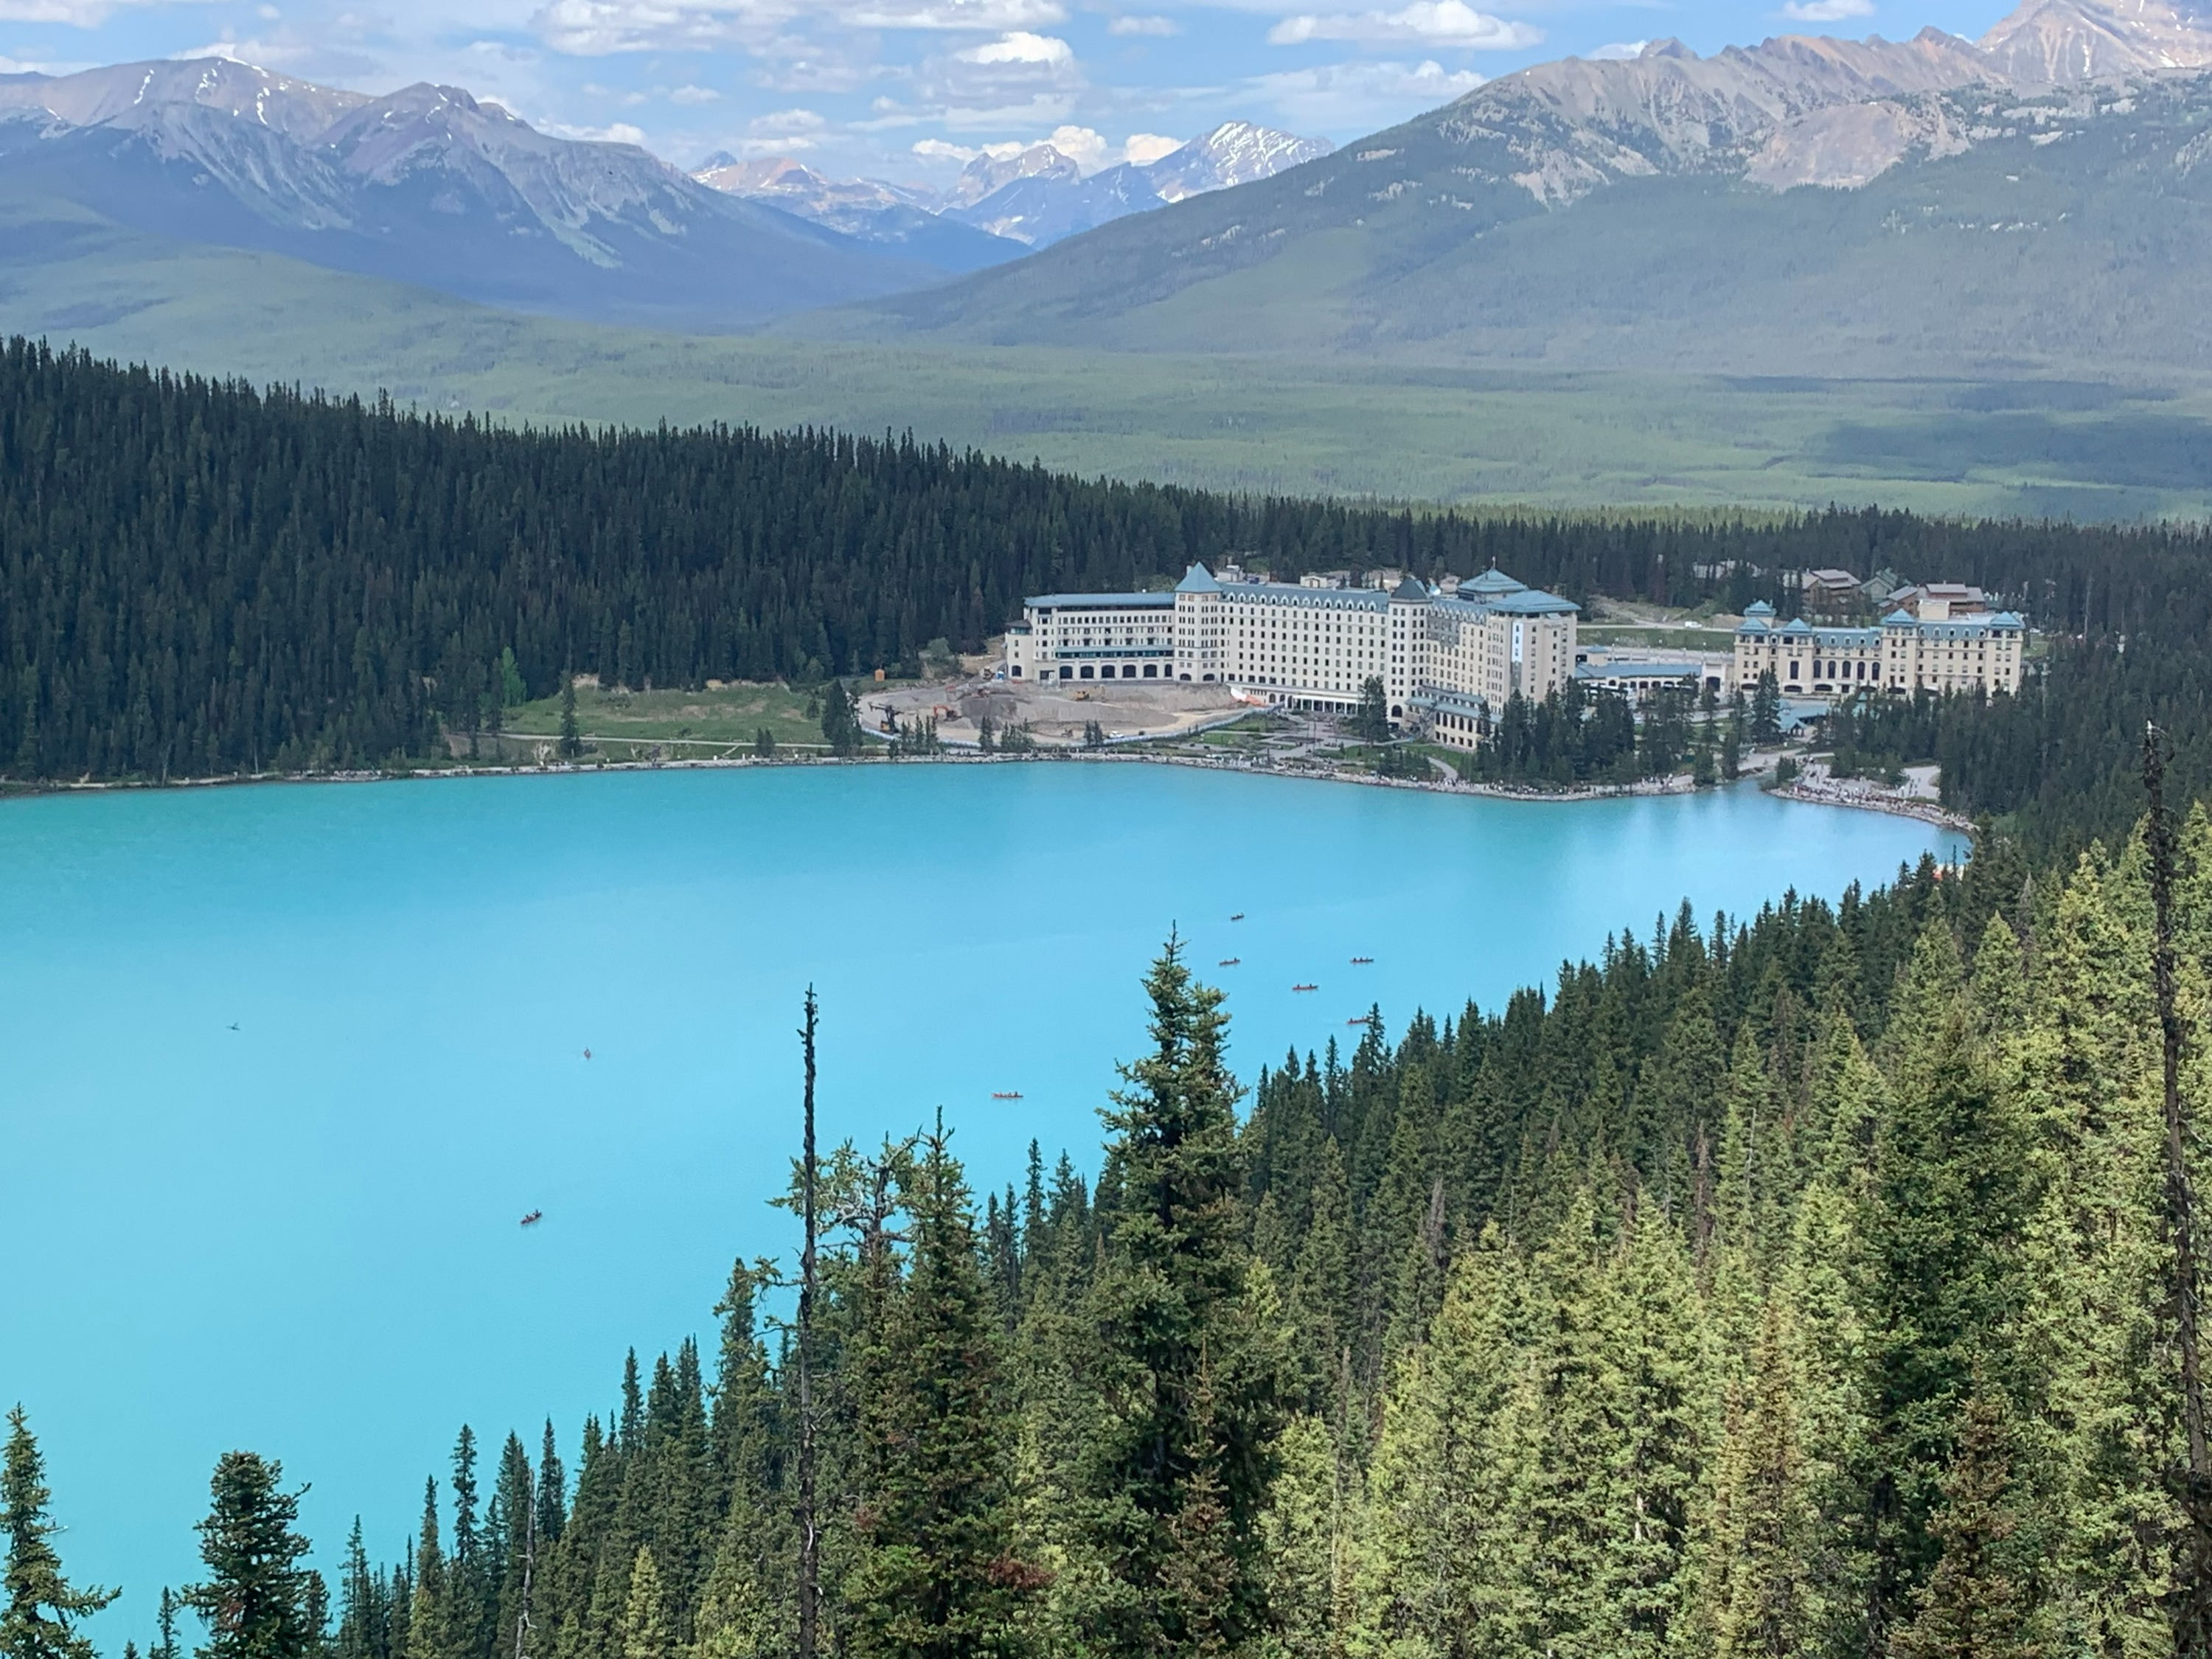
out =
[[1179,679],[1285,708],[1349,712],[1383,681],[1389,717],[1473,748],[1491,710],[1575,672],[1577,606],[1500,571],[1436,588],[1347,573],[1259,582],[1192,564],[1175,593],[1040,593],[1006,628],[1006,679]]

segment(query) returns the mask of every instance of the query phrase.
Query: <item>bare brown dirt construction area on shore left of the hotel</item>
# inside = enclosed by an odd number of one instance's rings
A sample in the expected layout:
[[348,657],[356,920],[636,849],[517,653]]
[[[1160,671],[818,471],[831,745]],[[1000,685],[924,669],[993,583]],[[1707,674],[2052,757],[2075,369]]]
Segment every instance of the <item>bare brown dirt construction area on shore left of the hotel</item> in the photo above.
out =
[[860,690],[860,726],[887,737],[898,721],[936,719],[940,743],[975,743],[982,719],[1004,732],[1026,726],[1040,748],[1079,745],[1097,721],[1106,741],[1183,737],[1221,726],[1254,706],[1228,686],[1108,681],[1099,686],[1022,686],[1006,679],[958,679]]

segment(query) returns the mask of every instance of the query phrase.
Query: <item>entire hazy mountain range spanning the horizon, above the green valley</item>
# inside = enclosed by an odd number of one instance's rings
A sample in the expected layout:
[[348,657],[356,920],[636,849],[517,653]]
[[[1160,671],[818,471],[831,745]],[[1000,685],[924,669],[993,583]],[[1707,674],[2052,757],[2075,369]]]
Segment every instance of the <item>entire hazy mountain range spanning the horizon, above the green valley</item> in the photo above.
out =
[[1040,144],[945,192],[787,157],[692,177],[449,86],[128,64],[0,77],[0,323],[64,334],[77,310],[9,294],[95,288],[137,237],[135,307],[157,248],[215,246],[562,319],[949,352],[2148,383],[2212,372],[2212,24],[2026,0],[1980,40],[1659,40],[1340,150],[1228,124],[1084,175]]

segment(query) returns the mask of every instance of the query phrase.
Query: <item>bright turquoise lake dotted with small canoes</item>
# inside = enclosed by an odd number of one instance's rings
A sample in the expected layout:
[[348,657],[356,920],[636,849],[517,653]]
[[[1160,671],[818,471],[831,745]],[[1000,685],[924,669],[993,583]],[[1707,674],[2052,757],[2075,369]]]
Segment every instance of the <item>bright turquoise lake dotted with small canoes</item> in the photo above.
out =
[[69,1568],[126,1590],[113,1652],[197,1575],[217,1453],[312,1482],[325,1566],[356,1513],[396,1559],[462,1420],[489,1453],[551,1416],[573,1458],[626,1347],[706,1336],[730,1259],[790,1241],[763,1201],[807,982],[825,1141],[942,1106],[1004,1186],[1031,1137],[1095,1168],[1170,927],[1230,989],[1250,1079],[1369,1002],[1394,1031],[1489,1006],[1683,898],[1836,896],[1929,849],[1958,843],[1750,787],[1515,803],[1155,765],[15,801],[0,1402],[44,1442]]

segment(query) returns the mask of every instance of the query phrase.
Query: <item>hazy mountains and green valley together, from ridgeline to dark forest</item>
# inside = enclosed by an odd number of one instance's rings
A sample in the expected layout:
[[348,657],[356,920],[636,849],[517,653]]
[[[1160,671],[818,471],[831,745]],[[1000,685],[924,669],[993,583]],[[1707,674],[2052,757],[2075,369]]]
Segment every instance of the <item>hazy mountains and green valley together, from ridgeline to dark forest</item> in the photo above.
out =
[[1225,489],[2212,511],[2212,33],[2161,0],[1655,42],[1303,144],[922,190],[436,86],[0,77],[0,332]]

